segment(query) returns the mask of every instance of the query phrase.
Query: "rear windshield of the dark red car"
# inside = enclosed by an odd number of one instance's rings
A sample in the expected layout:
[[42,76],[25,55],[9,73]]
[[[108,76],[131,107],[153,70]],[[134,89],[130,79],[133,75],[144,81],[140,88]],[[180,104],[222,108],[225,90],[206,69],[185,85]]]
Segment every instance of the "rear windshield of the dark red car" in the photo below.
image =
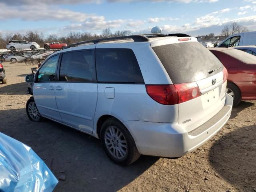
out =
[[223,51],[224,53],[244,62],[247,64],[256,64],[256,57],[252,54],[246,53],[241,50],[227,49]]

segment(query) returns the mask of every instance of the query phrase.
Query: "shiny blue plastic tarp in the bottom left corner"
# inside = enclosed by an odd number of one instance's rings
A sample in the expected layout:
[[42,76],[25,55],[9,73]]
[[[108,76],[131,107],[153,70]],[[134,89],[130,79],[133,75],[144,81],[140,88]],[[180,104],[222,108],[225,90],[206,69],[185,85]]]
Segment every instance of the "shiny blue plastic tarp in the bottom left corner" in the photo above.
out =
[[57,183],[30,147],[0,133],[0,192],[52,192]]

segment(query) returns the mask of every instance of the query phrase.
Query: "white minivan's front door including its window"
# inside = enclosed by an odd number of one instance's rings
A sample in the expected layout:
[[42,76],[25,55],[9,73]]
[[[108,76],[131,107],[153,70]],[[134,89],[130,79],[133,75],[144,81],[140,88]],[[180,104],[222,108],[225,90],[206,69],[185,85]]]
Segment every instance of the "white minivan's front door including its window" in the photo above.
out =
[[36,73],[33,95],[42,116],[61,122],[55,100],[56,68],[59,54],[48,58]]

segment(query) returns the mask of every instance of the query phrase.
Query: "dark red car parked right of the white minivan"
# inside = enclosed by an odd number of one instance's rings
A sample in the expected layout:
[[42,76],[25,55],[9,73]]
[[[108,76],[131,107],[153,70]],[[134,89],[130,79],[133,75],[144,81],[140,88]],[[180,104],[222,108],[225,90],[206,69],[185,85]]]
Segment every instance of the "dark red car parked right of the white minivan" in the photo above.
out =
[[230,48],[211,48],[210,51],[228,70],[226,92],[233,97],[233,106],[241,100],[256,100],[256,57]]

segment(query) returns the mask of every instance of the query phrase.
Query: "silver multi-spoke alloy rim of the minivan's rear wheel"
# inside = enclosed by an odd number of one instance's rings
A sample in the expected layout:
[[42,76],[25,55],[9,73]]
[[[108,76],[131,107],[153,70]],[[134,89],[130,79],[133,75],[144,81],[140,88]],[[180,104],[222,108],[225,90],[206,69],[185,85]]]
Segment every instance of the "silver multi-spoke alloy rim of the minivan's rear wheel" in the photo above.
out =
[[105,144],[110,154],[117,158],[123,159],[127,154],[127,142],[123,133],[115,126],[109,126],[104,136]]

